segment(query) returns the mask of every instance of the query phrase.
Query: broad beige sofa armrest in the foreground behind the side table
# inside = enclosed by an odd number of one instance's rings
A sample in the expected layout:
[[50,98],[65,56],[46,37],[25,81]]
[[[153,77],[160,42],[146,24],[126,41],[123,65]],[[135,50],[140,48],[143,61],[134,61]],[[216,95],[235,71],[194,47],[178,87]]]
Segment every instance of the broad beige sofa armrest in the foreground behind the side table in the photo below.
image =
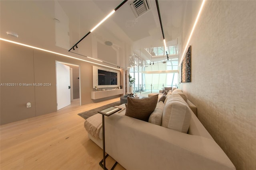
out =
[[114,114],[105,119],[106,152],[127,170],[235,167],[214,140]]

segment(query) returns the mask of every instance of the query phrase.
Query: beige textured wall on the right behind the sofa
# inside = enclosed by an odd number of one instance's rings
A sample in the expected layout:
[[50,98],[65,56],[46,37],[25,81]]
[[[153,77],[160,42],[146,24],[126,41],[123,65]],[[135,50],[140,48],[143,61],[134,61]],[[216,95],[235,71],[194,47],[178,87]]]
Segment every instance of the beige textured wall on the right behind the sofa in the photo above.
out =
[[192,82],[180,84],[238,170],[256,169],[255,9],[256,1],[206,1],[190,41]]

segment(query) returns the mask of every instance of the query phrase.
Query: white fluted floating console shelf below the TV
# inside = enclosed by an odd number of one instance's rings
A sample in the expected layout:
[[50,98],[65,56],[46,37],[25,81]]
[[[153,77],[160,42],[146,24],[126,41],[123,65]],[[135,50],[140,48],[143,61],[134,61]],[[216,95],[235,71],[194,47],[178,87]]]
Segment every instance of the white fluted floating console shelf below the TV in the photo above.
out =
[[91,99],[101,99],[110,96],[115,96],[118,94],[124,94],[124,89],[116,89],[116,90],[105,90],[105,91],[94,91],[91,92]]

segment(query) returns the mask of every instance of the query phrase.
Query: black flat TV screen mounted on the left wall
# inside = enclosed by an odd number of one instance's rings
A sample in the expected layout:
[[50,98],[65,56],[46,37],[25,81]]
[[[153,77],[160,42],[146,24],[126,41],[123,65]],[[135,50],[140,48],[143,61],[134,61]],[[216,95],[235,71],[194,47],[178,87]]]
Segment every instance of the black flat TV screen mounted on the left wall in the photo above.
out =
[[98,69],[98,85],[117,85],[117,73]]

